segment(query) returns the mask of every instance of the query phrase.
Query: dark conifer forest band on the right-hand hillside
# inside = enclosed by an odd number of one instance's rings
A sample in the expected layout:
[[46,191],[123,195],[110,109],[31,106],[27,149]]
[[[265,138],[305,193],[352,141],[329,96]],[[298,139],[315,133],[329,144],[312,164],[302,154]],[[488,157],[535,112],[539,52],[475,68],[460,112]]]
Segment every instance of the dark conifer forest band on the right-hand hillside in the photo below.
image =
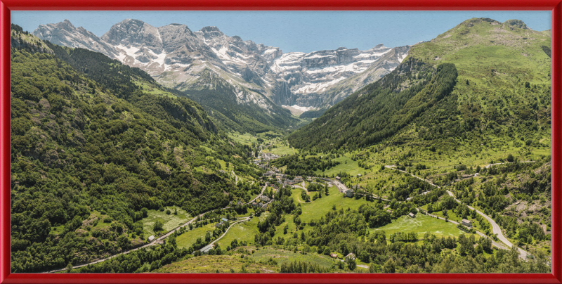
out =
[[289,136],[298,148],[358,148],[388,138],[447,96],[457,79],[453,64],[434,70],[410,58],[378,82],[354,93]]

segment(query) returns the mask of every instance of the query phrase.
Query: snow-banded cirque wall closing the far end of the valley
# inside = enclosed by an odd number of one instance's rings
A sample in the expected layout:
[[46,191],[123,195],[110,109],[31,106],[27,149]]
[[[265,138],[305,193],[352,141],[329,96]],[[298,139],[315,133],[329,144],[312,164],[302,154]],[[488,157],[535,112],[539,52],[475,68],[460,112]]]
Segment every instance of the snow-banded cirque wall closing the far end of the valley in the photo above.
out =
[[367,51],[341,47],[331,51],[285,53],[271,69],[283,81],[287,96],[282,105],[329,108],[353,91],[391,72],[407,56],[410,46],[388,48],[382,44]]

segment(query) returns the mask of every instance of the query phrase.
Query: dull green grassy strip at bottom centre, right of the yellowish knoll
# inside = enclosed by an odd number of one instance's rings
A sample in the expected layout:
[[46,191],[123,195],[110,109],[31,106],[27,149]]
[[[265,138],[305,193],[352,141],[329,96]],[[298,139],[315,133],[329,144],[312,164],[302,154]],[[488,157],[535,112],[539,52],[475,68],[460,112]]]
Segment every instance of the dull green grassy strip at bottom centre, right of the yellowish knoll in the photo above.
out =
[[251,258],[255,259],[256,262],[266,262],[268,259],[272,258],[275,259],[277,265],[283,262],[312,262],[326,268],[329,268],[332,266],[332,263],[334,263],[333,259],[325,255],[315,253],[301,254],[300,252],[292,252],[289,250],[275,250],[271,247],[256,250],[251,254]]

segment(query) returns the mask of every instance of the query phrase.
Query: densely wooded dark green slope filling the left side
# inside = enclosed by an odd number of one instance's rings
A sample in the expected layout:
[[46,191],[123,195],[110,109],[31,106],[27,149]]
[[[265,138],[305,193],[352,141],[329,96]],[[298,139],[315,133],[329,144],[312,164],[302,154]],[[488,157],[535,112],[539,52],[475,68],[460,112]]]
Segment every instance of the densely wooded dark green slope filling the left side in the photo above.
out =
[[[11,267],[39,272],[145,243],[143,211],[188,214],[250,194],[248,148],[145,72],[12,30]],[[258,191],[258,188],[255,188]],[[143,209],[145,208],[145,209]]]

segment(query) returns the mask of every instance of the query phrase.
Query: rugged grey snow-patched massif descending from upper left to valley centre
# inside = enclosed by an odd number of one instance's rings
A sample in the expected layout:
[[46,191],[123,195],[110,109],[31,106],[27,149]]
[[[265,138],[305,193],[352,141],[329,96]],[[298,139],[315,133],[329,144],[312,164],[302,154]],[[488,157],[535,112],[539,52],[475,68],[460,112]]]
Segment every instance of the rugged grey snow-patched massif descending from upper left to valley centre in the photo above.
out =
[[[131,19],[113,25],[100,39],[90,34],[91,39],[88,41],[85,39],[86,35],[79,32],[81,30],[84,29],[76,29],[65,21],[41,25],[34,34],[65,46],[100,51],[126,65],[141,68],[160,84],[178,89],[185,96],[202,103],[214,121],[228,129],[267,131],[273,128],[285,129],[299,122],[288,110],[272,103],[266,97],[266,91],[256,84],[244,81],[242,75],[233,73],[202,41],[202,32],[195,34],[187,26],[179,24],[152,27],[140,20]],[[72,34],[77,34],[75,42],[70,42]],[[61,37],[65,40],[61,41]],[[112,50],[107,52],[100,45],[88,44],[98,41],[105,46],[112,46]],[[86,44],[82,44],[84,42]],[[214,72],[214,77],[218,79],[209,81],[209,71]],[[230,86],[222,88],[214,83]],[[218,92],[216,89],[226,92]],[[191,93],[197,95],[191,96]],[[230,102],[233,96],[237,99],[230,108],[211,103]]]

